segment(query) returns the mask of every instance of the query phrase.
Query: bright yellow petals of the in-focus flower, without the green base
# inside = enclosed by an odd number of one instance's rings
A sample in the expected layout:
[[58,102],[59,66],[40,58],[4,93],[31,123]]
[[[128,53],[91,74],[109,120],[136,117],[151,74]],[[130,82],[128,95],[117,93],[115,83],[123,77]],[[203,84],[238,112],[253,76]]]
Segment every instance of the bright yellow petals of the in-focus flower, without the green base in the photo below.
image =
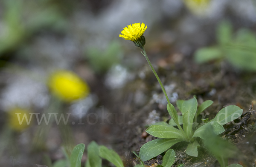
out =
[[141,25],[140,23],[130,24],[121,31],[119,37],[122,37],[124,40],[136,41],[143,35],[147,28],[148,26],[145,26],[144,23],[141,23]]

